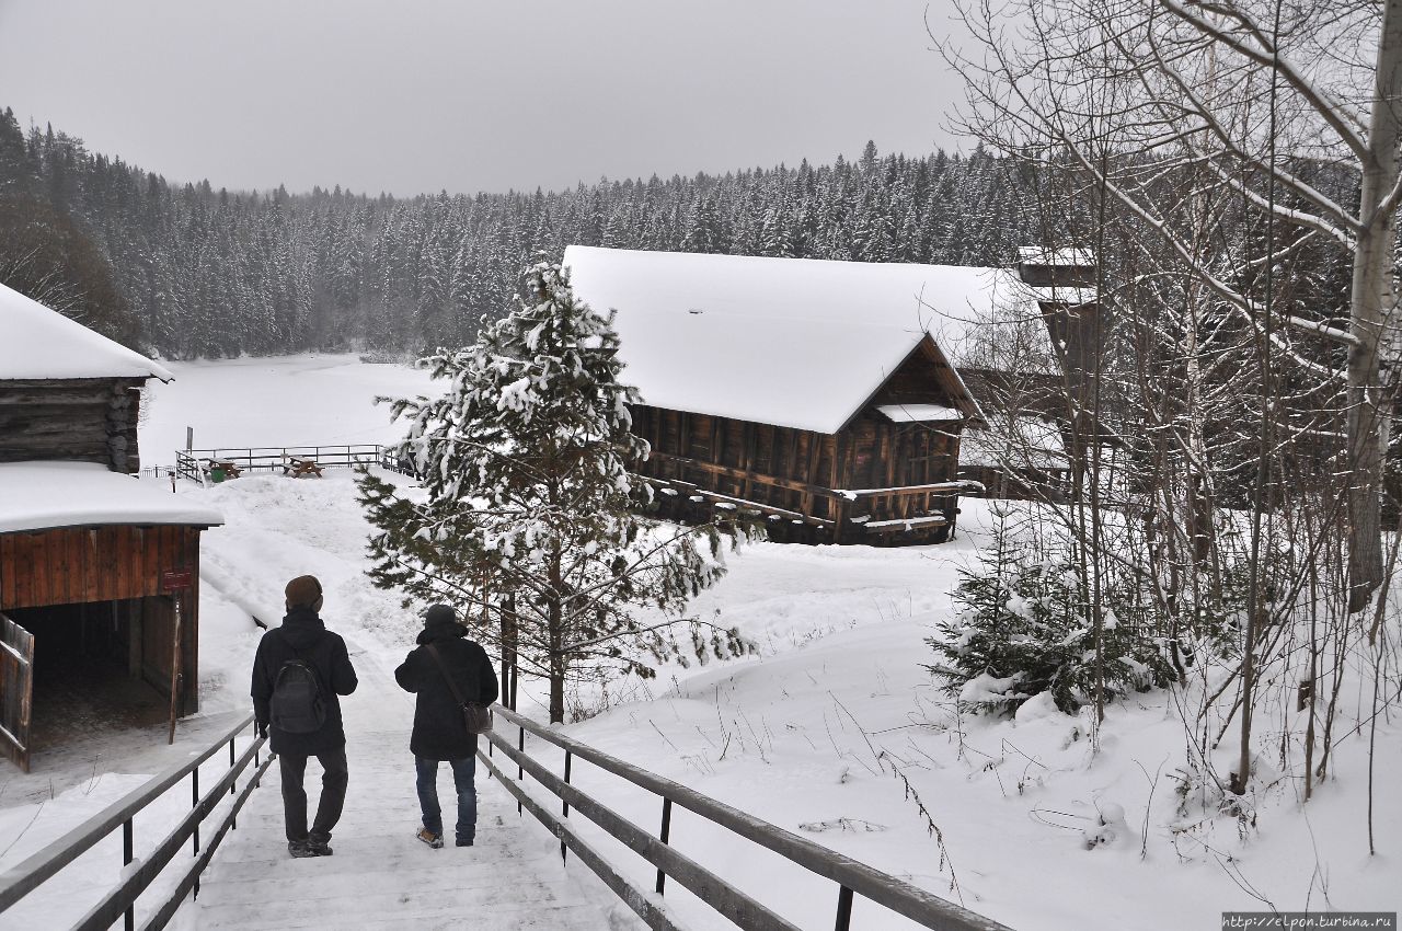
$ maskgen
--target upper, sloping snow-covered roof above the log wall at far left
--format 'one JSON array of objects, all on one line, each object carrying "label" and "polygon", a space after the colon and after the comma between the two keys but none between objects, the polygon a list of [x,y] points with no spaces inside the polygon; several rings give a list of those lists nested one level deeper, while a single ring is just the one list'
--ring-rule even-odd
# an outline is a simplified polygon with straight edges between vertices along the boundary
[{"label": "upper, sloping snow-covered roof above the log wall at far left", "polygon": [[0,285],[0,380],[175,376],[139,352]]}]

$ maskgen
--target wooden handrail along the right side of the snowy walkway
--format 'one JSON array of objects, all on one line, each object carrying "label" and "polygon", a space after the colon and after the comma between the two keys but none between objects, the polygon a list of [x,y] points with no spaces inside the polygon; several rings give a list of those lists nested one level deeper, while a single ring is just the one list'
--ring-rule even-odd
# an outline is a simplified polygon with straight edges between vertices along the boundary
[{"label": "wooden handrail along the right side of the snowy walkway", "polygon": [[[666,837],[666,830],[667,824],[670,824],[672,805],[676,803],[695,815],[700,815],[708,822],[719,824],[721,827],[725,827],[733,831],[735,834],[744,837],[746,840],[750,840],[761,847],[765,847],[767,850],[780,854],[785,859],[789,859],[791,862],[795,862],[799,867],[803,867],[805,869],[819,876],[831,879],[833,882],[838,883],[840,892],[838,892],[837,927],[840,930],[847,927],[844,914],[850,917],[851,896],[855,893],[861,895],[865,899],[869,899],[871,902],[885,906],[886,909],[890,909],[892,911],[900,916],[911,918],[913,921],[918,921],[927,928],[938,928],[941,931],[1011,931],[1007,925],[1002,925],[994,921],[993,918],[986,918],[980,914],[969,911],[967,909],[963,909],[952,902],[946,902],[945,899],[941,899],[939,896],[928,893],[924,889],[913,886],[908,882],[897,879],[896,876],[883,874],[879,869],[875,869],[872,867],[868,867],[866,864],[851,859],[850,857],[844,857],[843,854],[829,850],[827,847],[823,847],[820,844],[815,844],[813,841],[805,837],[799,837],[798,834],[794,834],[791,831],[787,831],[782,827],[777,827],[775,824],[754,817],[753,815],[747,815],[746,812],[742,812],[736,808],[730,808],[723,802],[718,802],[709,796],[701,795],[700,792],[690,789],[686,785],[681,785],[680,782],[673,782],[672,780],[642,770],[637,766],[632,766],[631,763],[625,763],[624,760],[608,756],[607,753],[590,747],[586,743],[580,743],[579,740],[573,740],[561,733],[557,733],[529,718],[516,714],[515,711],[503,708],[502,705],[494,705],[492,711],[501,715],[501,718],[516,725],[522,730],[522,740],[519,747],[512,747],[510,743],[505,740],[501,735],[492,733],[489,736],[492,746],[501,747],[503,753],[506,753],[512,759],[512,761],[517,763],[517,766],[520,767],[517,770],[517,778],[520,777],[520,770],[526,768],[526,761],[530,760],[530,757],[526,757],[524,754],[524,735],[529,732],[565,750],[566,780],[569,773],[568,767],[571,757],[579,757],[582,760],[593,763],[601,770],[613,773],[614,775],[618,775],[632,782],[634,785],[638,785],[639,788],[652,792],[653,795],[660,796],[663,799],[663,834],[660,837],[662,844],[666,844],[669,840]],[[481,753],[478,756],[481,756]],[[534,763],[534,760],[530,761]],[[499,775],[496,767],[492,768],[495,771],[494,774]],[[575,805],[576,808],[580,808],[580,810],[586,816],[589,816],[589,812],[583,810],[583,806],[580,805],[580,796],[583,799],[589,799],[589,796],[583,795],[582,792],[579,792],[579,789],[575,789],[573,787],[568,787],[569,788],[568,795],[571,798],[566,799],[565,794],[561,794],[559,791],[562,782],[558,780],[558,777],[554,777],[554,774],[545,771],[545,774],[548,774],[551,780],[548,781],[543,780],[540,770],[543,770],[543,767],[536,764],[536,768],[531,771],[531,775],[536,777],[537,781],[540,781],[543,785],[545,785],[545,788],[554,791],[557,795],[559,795],[562,799],[566,801],[566,809],[565,809],[566,816],[568,816],[568,805]],[[502,777],[502,781],[503,785],[508,787],[508,789],[512,788],[506,777]],[[520,801],[519,795],[517,801]],[[589,802],[597,808],[603,808],[597,802],[593,802],[593,799],[589,799]],[[604,810],[607,812],[607,809]],[[608,812],[608,815],[611,815],[611,812]],[[540,815],[537,815],[537,817],[540,817]],[[607,820],[610,819],[606,815],[604,822]],[[604,830],[607,830],[610,834],[613,834],[615,838],[628,844],[631,848],[637,850],[638,852],[644,852],[642,850],[639,850],[639,845],[637,843],[629,843],[629,838],[620,837],[618,833],[611,830],[607,823],[601,823],[599,820],[596,820],[596,823]],[[552,826],[547,823],[547,827]],[[646,847],[646,844],[642,845]],[[662,882],[665,875],[663,867],[660,864],[656,864],[656,859],[653,859],[653,857],[648,857],[646,854],[644,854],[644,857],[659,867],[658,892],[660,893],[663,889],[663,882]],[[723,881],[718,882],[723,883]],[[729,883],[723,885],[729,888]],[[737,892],[733,888],[729,889],[730,892]],[[625,896],[625,900],[627,899],[628,897]],[[629,902],[628,904],[632,903]],[[644,917],[646,918],[646,916]],[[791,927],[787,925],[787,923],[770,924],[765,920],[763,920],[763,917],[757,920],[747,920],[743,924],[737,921],[736,917],[732,914],[728,914],[726,917],[729,917],[732,921],[736,921],[736,924],[740,924],[740,927],[746,928]]]}]

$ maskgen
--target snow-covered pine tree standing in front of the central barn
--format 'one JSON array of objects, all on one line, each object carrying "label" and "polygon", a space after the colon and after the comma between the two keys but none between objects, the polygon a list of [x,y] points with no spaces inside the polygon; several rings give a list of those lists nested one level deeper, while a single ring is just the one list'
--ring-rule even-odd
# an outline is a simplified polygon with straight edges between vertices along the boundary
[{"label": "snow-covered pine tree standing in front of the central barn", "polygon": [[[631,432],[637,390],[620,384],[613,314],[575,300],[568,273],[527,268],[516,308],[477,344],[422,360],[447,381],[437,400],[395,401],[412,423],[393,451],[423,475],[426,499],[362,475],[379,533],[370,576],[422,602],[481,610],[482,639],[509,641],[524,674],[550,680],[550,719],[586,666],[649,677],[649,660],[750,648],[733,630],[676,617],[725,573],[743,523],[677,527],[644,516],[652,492],[628,467],[648,454]],[[642,624],[638,611],[672,620]],[[471,623],[471,621],[468,621]]]}]

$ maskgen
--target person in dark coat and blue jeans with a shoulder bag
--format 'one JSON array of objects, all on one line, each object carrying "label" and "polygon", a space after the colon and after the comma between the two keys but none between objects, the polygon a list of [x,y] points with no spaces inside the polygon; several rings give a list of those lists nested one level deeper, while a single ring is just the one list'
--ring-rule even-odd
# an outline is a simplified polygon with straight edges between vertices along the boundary
[{"label": "person in dark coat and blue jeans with a shoulder bag", "polygon": [[443,810],[437,799],[437,764],[447,760],[457,789],[457,845],[471,847],[477,837],[477,735],[467,732],[463,707],[443,677],[429,648],[437,651],[464,701],[489,705],[496,701],[496,670],[486,651],[467,639],[467,628],[447,604],[435,604],[423,616],[418,646],[394,670],[394,679],[414,701],[414,733],[409,752],[418,773],[423,827],[419,840],[443,845]]}]

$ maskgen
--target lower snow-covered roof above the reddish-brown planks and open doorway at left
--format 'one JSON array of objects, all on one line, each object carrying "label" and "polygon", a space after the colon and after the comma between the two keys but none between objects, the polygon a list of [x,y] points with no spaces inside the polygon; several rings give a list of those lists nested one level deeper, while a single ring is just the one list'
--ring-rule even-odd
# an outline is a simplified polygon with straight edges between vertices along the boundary
[{"label": "lower snow-covered roof above the reddish-brown planks and open doorway at left", "polygon": [[0,533],[98,524],[224,523],[212,508],[174,495],[163,482],[108,471],[97,463],[0,463]]}]

